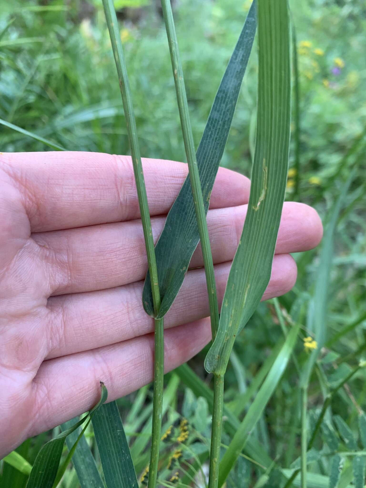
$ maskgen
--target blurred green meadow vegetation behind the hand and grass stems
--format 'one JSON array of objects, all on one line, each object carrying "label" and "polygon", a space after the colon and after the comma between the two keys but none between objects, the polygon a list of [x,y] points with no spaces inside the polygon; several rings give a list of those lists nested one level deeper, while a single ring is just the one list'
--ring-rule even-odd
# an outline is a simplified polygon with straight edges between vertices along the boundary
[{"label": "blurred green meadow vegetation behind the hand and grass stems", "polygon": [[[244,0],[174,1],[196,147],[250,3]],[[121,22],[142,156],[185,161],[159,2],[116,0],[115,5]],[[296,138],[293,137],[286,198],[314,205],[327,228],[329,212],[344,181],[352,168],[356,168],[337,222],[333,237],[334,258],[327,270],[330,286],[325,325],[328,338],[336,340],[322,351],[323,383],[316,374],[312,378],[309,409],[316,415],[326,386],[345,378],[363,359],[366,349],[366,6],[362,0],[291,0],[290,7],[296,26],[299,63],[300,165],[297,171]],[[256,49],[255,44],[222,160],[222,165],[247,175],[250,174],[256,115]],[[128,154],[115,65],[102,4],[98,0],[1,2],[0,93],[0,118],[7,122],[68,150]],[[4,126],[0,126],[0,147],[4,152],[48,150],[41,142]],[[299,186],[295,191],[297,178]],[[305,304],[300,317],[306,327],[314,285],[319,278],[319,250],[299,254],[295,259],[299,269],[297,284],[280,299],[279,305],[285,323],[290,324],[299,304]],[[281,339],[278,323],[274,304],[261,304],[238,338],[225,377],[225,400],[234,402],[234,410],[238,392],[245,394]],[[346,328],[347,325],[353,326]],[[302,349],[300,345],[300,358],[305,354]],[[209,382],[209,378],[205,378],[203,359],[204,351],[190,366]],[[365,372],[360,369],[331,403],[332,415],[339,414],[345,420],[358,448],[361,444],[357,444],[357,416],[366,401],[365,379]],[[205,469],[204,452],[210,435],[207,402],[196,398],[176,380],[174,374],[167,375],[170,403],[165,423],[169,426],[179,418],[177,412],[188,419],[190,449],[201,456],[200,463]],[[250,391],[248,401],[253,394],[255,390]],[[138,474],[148,460],[149,431],[147,426],[144,432],[143,426],[151,415],[150,400],[151,389],[147,387],[120,401],[131,445],[140,439],[140,446],[133,451]],[[300,452],[299,412],[297,377],[290,366],[252,433],[267,455],[282,468],[290,468]],[[145,441],[141,442],[143,436]],[[47,438],[49,433],[27,441],[20,452],[32,463]],[[88,442],[93,444],[90,429]],[[223,442],[227,444],[229,437],[224,436]],[[348,448],[342,434],[340,442],[344,450]],[[176,452],[176,447],[174,439],[167,442],[167,453]],[[321,439],[315,447],[318,452],[327,449]],[[194,459],[192,452],[184,451],[181,458]],[[175,466],[183,468],[179,458]],[[258,460],[253,462],[242,457],[227,486],[276,488],[285,485],[283,473],[274,468],[274,464],[268,467],[264,463],[263,468],[258,463]],[[355,483],[351,464],[351,457],[345,456],[337,486]],[[308,486],[328,487],[329,469],[329,458],[316,459],[309,467],[313,477],[309,478]],[[195,486],[189,480],[183,484],[183,471],[179,471],[179,480],[174,483]],[[205,486],[203,480],[197,480],[196,486]],[[14,468],[2,467],[1,486],[22,487],[25,481],[26,477]],[[79,487],[71,467],[61,486]],[[299,486],[299,482],[295,481],[294,486]]]}]

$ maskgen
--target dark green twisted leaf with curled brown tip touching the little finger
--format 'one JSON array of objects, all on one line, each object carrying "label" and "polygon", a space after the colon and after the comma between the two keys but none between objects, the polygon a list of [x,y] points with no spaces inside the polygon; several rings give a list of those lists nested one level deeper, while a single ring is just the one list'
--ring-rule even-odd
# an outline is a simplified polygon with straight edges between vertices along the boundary
[{"label": "dark green twisted leaf with curled brown tip touching the little finger", "polygon": [[106,401],[108,392],[106,387],[101,383],[101,399],[90,412],[82,417],[73,427],[61,432],[51,441],[45,444],[36,457],[32,471],[30,473],[27,488],[52,488],[58,473],[63,444],[66,437],[80,427],[89,416],[98,412],[99,408]]}]

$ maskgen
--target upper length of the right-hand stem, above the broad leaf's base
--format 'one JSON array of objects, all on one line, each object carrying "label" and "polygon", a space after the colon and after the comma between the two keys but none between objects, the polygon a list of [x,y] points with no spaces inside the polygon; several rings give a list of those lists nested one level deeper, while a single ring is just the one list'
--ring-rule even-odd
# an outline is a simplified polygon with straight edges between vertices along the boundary
[{"label": "upper length of the right-hand stem, above the broad leaf's base", "polygon": [[177,93],[179,115],[181,118],[182,133],[185,154],[187,157],[189,179],[192,188],[193,203],[196,212],[196,219],[200,234],[204,271],[206,274],[208,302],[210,306],[212,340],[216,337],[219,327],[219,306],[217,302],[216,281],[210,240],[206,222],[206,213],[203,205],[203,195],[200,183],[200,175],[197,166],[196,151],[194,148],[191,122],[189,119],[189,110],[187,96],[185,93],[183,69],[179,55],[178,40],[174,27],[172,8],[169,0],[162,0],[163,16],[165,21],[166,34],[169,42],[170,57],[174,74],[174,83]]}]

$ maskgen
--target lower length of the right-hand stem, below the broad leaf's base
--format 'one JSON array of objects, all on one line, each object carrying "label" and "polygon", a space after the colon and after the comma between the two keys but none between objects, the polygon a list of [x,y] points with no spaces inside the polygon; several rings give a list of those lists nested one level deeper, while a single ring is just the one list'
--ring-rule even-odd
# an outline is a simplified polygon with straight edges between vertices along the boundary
[{"label": "lower length of the right-hand stem, below the broad leaf's base", "polygon": [[224,376],[214,375],[214,403],[212,410],[212,433],[208,488],[216,488],[219,479],[221,430],[224,408]]}]

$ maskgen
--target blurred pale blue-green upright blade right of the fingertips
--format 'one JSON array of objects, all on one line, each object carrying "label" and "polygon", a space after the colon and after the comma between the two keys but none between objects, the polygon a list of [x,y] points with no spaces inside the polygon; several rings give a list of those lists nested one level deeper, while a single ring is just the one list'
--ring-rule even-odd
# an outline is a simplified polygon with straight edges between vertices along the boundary
[{"label": "blurred pale blue-green upright blade right of the fingertips", "polygon": [[339,195],[336,204],[331,212],[329,223],[325,229],[322,251],[320,255],[320,263],[317,272],[314,297],[310,303],[310,309],[313,313],[308,323],[308,329],[313,332],[314,338],[318,343],[318,348],[314,349],[306,361],[303,374],[301,377],[301,383],[306,385],[309,381],[312,368],[315,361],[318,358],[319,351],[325,345],[326,340],[326,314],[328,305],[328,290],[330,280],[330,269],[332,265],[333,257],[333,244],[334,244],[334,232],[337,225],[339,213],[341,211],[344,199],[346,197],[349,185],[353,180],[354,172],[349,175],[346,183],[344,183],[341,194]]}]

